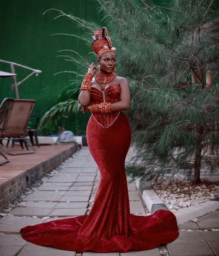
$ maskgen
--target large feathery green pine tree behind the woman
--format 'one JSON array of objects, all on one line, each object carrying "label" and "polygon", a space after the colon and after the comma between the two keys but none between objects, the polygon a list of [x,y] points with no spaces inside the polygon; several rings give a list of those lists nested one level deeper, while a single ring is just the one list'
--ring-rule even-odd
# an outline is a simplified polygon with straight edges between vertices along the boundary
[{"label": "large feathery green pine tree behind the woman", "polygon": [[200,183],[201,165],[219,169],[219,2],[98,3],[116,47],[116,73],[130,85],[135,157],[128,175],[148,182],[183,174]]}]

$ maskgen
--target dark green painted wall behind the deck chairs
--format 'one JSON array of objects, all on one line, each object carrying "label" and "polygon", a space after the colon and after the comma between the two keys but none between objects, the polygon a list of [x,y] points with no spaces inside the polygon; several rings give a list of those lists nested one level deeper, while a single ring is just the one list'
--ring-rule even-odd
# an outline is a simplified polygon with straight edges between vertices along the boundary
[{"label": "dark green painted wall behind the deck chairs", "polygon": [[[36,100],[33,115],[43,116],[57,102],[57,91],[75,79],[73,74],[57,72],[74,70],[71,61],[65,61],[57,51],[73,49],[81,55],[91,51],[82,40],[74,37],[55,35],[68,33],[80,35],[80,29],[67,17],[54,19],[58,12],[48,11],[49,8],[60,9],[97,24],[101,18],[97,15],[95,0],[0,0],[0,59],[13,61],[28,67],[40,69],[42,74],[33,75],[19,86],[20,98]],[[0,63],[0,70],[10,72],[9,65]],[[20,81],[30,72],[23,68],[16,69],[17,80]],[[85,70],[86,72],[86,70]],[[0,78],[0,102],[6,97],[15,97],[11,89],[12,78]],[[85,131],[90,113],[79,113],[82,130]],[[74,123],[74,116],[69,122]]]}]

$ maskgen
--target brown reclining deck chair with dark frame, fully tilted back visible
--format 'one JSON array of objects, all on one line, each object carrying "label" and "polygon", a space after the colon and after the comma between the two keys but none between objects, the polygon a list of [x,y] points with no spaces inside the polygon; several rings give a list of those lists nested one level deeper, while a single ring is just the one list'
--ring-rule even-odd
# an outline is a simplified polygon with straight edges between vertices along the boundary
[{"label": "brown reclining deck chair with dark frame, fully tilted back visible", "polygon": [[[0,128],[0,147],[10,155],[22,155],[22,154],[31,154],[36,153],[34,147],[29,143],[25,138],[25,133],[27,129],[27,124],[30,119],[33,107],[35,105],[35,100],[29,99],[14,99],[11,109],[8,111],[7,116],[2,123]],[[12,153],[8,152],[6,147],[3,145],[3,140],[19,140],[24,142],[27,150],[28,146],[32,149],[30,152],[17,152]]]}]

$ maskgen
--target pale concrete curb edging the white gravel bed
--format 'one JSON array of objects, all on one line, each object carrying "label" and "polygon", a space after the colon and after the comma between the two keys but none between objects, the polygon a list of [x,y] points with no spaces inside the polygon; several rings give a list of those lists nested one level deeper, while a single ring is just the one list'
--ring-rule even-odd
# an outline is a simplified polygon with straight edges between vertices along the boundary
[{"label": "pale concrete curb edging the white gravel bed", "polygon": [[[166,207],[149,183],[140,184],[139,179],[136,179],[135,184],[150,213],[153,214],[159,209],[169,211],[168,207]],[[181,225],[192,219],[216,211],[217,209],[219,209],[219,201],[209,200],[195,206],[179,209],[173,212],[173,214],[176,216],[177,224]]]}]

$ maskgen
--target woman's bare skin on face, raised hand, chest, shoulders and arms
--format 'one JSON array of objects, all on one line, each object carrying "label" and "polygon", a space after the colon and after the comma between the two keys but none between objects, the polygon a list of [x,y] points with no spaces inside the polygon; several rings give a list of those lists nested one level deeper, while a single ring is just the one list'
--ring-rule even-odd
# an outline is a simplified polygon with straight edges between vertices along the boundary
[{"label": "woman's bare skin on face, raised hand, chest, shoulders and arms", "polygon": [[[101,72],[112,73],[114,67],[116,67],[116,54],[113,52],[106,52],[100,56],[97,62],[100,65]],[[88,69],[88,73],[94,74],[96,69],[97,67],[95,67],[92,63]],[[95,80],[95,78],[93,78],[91,82],[91,87],[96,87],[98,90],[104,91],[112,84],[119,85],[121,88],[121,92],[120,101],[111,104],[111,111],[128,110],[130,107],[130,92],[128,81],[124,77],[116,76],[115,79],[113,79],[107,84],[100,84]],[[78,102],[85,108],[85,110],[91,111],[92,104],[90,104],[90,101],[90,91],[80,91]]]}]

